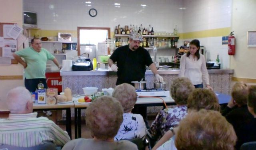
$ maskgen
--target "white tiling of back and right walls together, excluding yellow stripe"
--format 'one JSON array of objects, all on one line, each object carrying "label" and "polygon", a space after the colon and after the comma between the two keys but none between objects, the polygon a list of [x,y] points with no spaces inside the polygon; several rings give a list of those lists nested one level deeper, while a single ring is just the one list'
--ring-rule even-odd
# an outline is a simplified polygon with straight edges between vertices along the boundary
[{"label": "white tiling of back and right walls together, excluding yellow stripe", "polygon": [[[232,0],[90,0],[91,6],[86,6],[86,1],[24,0],[24,10],[38,13],[38,28],[43,30],[77,30],[77,26],[88,26],[110,27],[113,32],[118,24],[151,24],[155,32],[173,32],[177,25],[178,32],[186,33],[231,26]],[[120,8],[114,3],[120,3]],[[146,4],[146,8],[141,4]],[[94,18],[88,14],[91,8],[98,11]],[[210,54],[208,59],[215,60],[219,53],[222,68],[230,66],[222,37],[199,40]],[[179,40],[178,46],[182,43]]]}]

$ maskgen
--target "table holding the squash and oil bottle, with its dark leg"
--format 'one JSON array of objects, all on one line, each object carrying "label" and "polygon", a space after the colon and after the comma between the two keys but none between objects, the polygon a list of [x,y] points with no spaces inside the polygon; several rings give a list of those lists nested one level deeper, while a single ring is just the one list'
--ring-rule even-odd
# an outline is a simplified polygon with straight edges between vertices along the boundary
[{"label": "table holding the squash and oil bottle, with its dark leg", "polygon": [[74,102],[70,103],[57,103],[56,105],[46,105],[34,103],[33,111],[50,111],[50,110],[66,110],[66,131],[72,139],[72,130],[71,130],[71,111],[70,108],[74,107]]}]

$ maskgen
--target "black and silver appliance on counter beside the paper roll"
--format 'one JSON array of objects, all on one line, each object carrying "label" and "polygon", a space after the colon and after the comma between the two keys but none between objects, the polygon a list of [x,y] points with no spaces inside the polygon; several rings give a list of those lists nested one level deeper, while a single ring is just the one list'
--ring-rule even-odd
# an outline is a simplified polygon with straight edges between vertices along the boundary
[{"label": "black and silver appliance on counter beside the paper roll", "polygon": [[72,65],[72,71],[90,71],[92,69],[92,61],[89,58],[78,59]]}]

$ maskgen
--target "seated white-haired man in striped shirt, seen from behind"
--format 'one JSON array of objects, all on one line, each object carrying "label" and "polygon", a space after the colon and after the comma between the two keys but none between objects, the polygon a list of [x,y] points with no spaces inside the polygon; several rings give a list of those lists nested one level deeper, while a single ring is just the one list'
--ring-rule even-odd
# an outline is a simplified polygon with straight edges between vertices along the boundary
[{"label": "seated white-haired man in striped shirt, seen from behind", "polygon": [[0,144],[16,147],[34,147],[45,142],[63,146],[70,141],[64,132],[52,120],[36,118],[30,92],[25,87],[16,87],[7,93],[9,118],[0,119]]}]

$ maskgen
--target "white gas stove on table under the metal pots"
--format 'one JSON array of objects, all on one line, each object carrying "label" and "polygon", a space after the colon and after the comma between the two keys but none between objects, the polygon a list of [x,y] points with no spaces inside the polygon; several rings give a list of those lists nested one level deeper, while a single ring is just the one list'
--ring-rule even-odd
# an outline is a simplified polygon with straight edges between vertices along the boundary
[{"label": "white gas stove on table under the metal pots", "polygon": [[153,97],[170,97],[170,91],[165,89],[145,89],[136,90],[138,97],[140,96],[153,96]]}]

